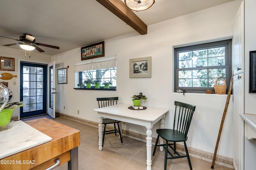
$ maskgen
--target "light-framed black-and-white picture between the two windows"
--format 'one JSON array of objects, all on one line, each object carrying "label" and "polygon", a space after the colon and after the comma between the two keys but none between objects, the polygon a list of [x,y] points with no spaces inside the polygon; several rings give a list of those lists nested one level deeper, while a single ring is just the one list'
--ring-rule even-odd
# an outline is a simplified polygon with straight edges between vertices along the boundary
[{"label": "light-framed black-and-white picture between the two windows", "polygon": [[151,57],[130,59],[130,78],[151,77]]}]

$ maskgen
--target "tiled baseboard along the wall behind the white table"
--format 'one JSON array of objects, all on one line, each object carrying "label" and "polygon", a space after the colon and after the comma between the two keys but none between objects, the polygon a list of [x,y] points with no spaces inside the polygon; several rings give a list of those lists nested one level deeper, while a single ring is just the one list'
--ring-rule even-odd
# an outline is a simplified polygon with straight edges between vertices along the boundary
[{"label": "tiled baseboard along the wall behind the white table", "polygon": [[[81,118],[78,118],[78,117],[75,117],[75,116],[70,116],[70,115],[66,115],[64,113],[58,113],[58,112],[56,112],[56,116],[62,116],[62,117],[65,117],[67,119],[77,121],[77,122],[80,122],[80,123],[84,123],[86,125],[90,125],[90,126],[98,128],[98,123],[94,122],[94,121],[89,121],[89,120],[86,120],[86,119],[81,119]],[[113,127],[107,126],[106,129],[113,129]],[[146,135],[142,135],[142,134],[139,134],[139,133],[134,133],[134,132],[127,131],[127,130],[124,130],[124,129],[122,129],[122,135],[126,136],[126,137],[130,137],[132,139],[137,139],[139,141],[146,142]],[[156,138],[152,138],[152,143],[153,144],[156,143]],[[185,148],[184,148],[183,145],[177,144],[176,149],[180,150],[180,152],[186,154]],[[214,156],[214,153],[205,152],[203,150],[194,149],[194,148],[191,148],[191,147],[188,147],[188,152],[191,156],[194,156],[196,158],[200,158],[202,160],[207,160],[209,162],[212,162],[213,156]],[[220,165],[226,166],[228,168],[234,168],[233,159],[225,157],[225,156],[216,155],[216,159],[215,159],[214,164],[220,164]]]}]

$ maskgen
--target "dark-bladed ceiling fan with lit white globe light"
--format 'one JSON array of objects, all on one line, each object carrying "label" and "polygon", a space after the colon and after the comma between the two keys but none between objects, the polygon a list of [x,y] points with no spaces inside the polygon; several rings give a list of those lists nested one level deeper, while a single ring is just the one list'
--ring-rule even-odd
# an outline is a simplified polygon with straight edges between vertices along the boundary
[{"label": "dark-bladed ceiling fan with lit white globe light", "polygon": [[[4,37],[4,36],[0,35],[0,37]],[[9,37],[4,37],[4,38],[9,38]],[[9,38],[9,39],[14,39],[14,38]],[[6,44],[4,46],[20,45],[20,47],[25,49],[25,50],[31,51],[33,49],[36,49],[37,51],[39,51],[41,53],[44,52],[44,50],[39,48],[36,45],[49,47],[49,48],[54,48],[54,49],[60,49],[60,47],[57,47],[57,46],[47,45],[47,44],[42,44],[42,43],[36,43],[36,38],[33,37],[32,35],[28,34],[28,33],[24,33],[23,35],[20,35],[20,39],[14,39],[14,40],[22,41],[22,43],[12,43],[12,44]],[[23,45],[23,47],[22,47],[22,45]],[[26,49],[26,47],[28,47],[28,49]]]}]

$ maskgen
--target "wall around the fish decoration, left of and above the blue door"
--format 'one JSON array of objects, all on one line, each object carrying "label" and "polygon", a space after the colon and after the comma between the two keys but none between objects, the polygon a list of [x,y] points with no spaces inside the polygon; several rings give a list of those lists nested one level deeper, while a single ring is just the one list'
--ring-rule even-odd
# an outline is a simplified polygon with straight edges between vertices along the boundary
[{"label": "wall around the fish decoration, left of and above the blue door", "polygon": [[[0,82],[8,82],[8,88],[12,90],[12,100],[11,101],[20,101],[20,66],[18,65],[18,60],[20,61],[31,61],[31,62],[44,62],[44,63],[50,63],[51,62],[51,56],[50,55],[44,55],[43,53],[34,53],[30,52],[30,58],[29,58],[29,52],[27,51],[27,55],[25,57],[25,50],[18,50],[18,49],[11,49],[7,47],[1,47],[0,46],[0,56],[1,57],[10,57],[15,59],[15,71],[2,71],[0,70],[0,74],[4,72],[8,72],[12,75],[17,75],[17,78],[14,77],[10,80],[2,80],[0,79]],[[16,83],[16,85],[14,85]],[[15,109],[13,112],[13,116],[19,116],[19,109]]]}]

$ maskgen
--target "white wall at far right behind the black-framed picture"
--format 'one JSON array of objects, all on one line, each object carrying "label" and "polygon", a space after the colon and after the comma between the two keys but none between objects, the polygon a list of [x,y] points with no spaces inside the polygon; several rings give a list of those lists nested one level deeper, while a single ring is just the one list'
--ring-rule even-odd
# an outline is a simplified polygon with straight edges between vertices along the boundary
[{"label": "white wall at far right behind the black-framed picture", "polygon": [[[256,39],[256,1],[245,0],[245,98],[244,110],[245,113],[256,114],[256,93],[249,93],[249,68],[250,56],[249,51],[255,51]],[[256,167],[256,139],[248,140],[244,137],[244,169],[253,170]]]}]

